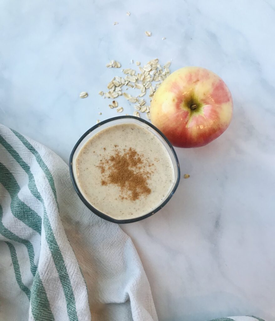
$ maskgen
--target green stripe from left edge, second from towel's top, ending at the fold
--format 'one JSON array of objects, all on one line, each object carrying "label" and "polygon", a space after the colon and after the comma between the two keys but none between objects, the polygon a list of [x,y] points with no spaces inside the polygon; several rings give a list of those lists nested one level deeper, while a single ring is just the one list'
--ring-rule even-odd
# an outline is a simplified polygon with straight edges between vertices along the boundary
[{"label": "green stripe from left edge, second from towel's top, ending at the fold", "polygon": [[29,177],[29,183],[28,187],[31,192],[31,194],[37,198],[40,202],[42,201],[42,197],[37,190],[37,187],[35,185],[35,180],[32,175],[32,172],[30,171],[30,166],[24,162],[24,160],[21,158],[21,156],[16,152],[16,150],[4,139],[2,135],[0,135],[0,144],[4,146],[4,148],[11,154],[11,156],[18,162],[18,164],[24,169],[24,171],[28,174]]}]

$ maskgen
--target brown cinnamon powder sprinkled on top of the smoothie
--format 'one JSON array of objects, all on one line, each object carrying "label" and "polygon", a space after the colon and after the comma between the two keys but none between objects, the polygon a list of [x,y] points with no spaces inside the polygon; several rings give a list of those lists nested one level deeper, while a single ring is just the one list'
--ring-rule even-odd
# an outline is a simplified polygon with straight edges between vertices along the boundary
[{"label": "brown cinnamon powder sprinkled on top of the smoothie", "polygon": [[148,187],[151,172],[148,171],[148,167],[151,169],[152,165],[131,147],[123,153],[115,149],[112,156],[102,159],[99,163],[98,167],[103,174],[101,185],[117,185],[121,189],[122,199],[135,201],[141,195],[151,193]]}]

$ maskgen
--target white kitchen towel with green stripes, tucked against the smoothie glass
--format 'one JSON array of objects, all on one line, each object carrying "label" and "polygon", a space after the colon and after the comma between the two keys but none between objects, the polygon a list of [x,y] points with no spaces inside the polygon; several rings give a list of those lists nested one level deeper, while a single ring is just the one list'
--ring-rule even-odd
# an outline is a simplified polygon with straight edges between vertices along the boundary
[{"label": "white kitchen towel with green stripes, tucked against the smoothie glass", "polygon": [[0,320],[91,319],[157,320],[133,243],[82,204],[63,160],[0,125]]}]

